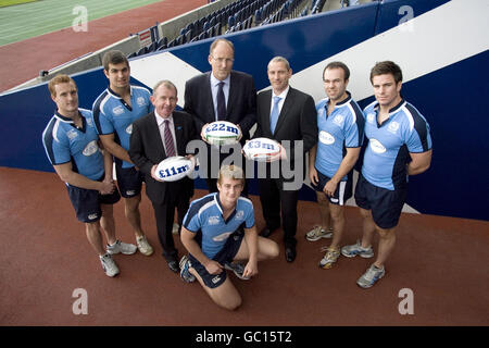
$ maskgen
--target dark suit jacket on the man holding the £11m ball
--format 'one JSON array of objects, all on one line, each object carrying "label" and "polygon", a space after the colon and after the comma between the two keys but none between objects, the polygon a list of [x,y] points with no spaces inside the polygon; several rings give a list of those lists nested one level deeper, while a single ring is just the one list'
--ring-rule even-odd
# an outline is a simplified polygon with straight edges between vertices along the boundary
[{"label": "dark suit jacket on the man holding the \u00a311m ball", "polygon": [[[187,144],[197,138],[193,120],[189,114],[180,111],[173,112],[173,120],[177,152],[179,156],[185,156],[187,154]],[[145,174],[146,194],[152,202],[161,204],[168,198],[176,199],[176,197],[173,197],[175,195],[181,196],[184,199],[193,195],[193,181],[189,177],[184,177],[178,182],[161,183],[151,176],[152,166],[166,159],[154,112],[133,123],[129,157]],[[172,197],[168,197],[170,195]]]}]

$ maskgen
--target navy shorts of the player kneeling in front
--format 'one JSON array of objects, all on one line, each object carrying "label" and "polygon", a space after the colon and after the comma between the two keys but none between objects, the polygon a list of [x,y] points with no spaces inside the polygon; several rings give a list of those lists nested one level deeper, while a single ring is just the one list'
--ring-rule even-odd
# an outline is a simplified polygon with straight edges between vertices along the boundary
[{"label": "navy shorts of the player kneeling in front", "polygon": [[[217,261],[223,266],[226,262],[231,262],[236,254],[238,253],[239,247],[241,246],[242,238],[244,237],[244,232],[242,229],[238,229],[234,234],[231,234],[223,249],[217,252],[212,260]],[[226,270],[223,270],[220,274],[210,274],[208,270],[200,263],[192,254],[189,254],[190,265],[199,273],[200,277],[204,282],[205,286],[213,289],[218,287],[221,284],[226,281],[227,273]]]}]

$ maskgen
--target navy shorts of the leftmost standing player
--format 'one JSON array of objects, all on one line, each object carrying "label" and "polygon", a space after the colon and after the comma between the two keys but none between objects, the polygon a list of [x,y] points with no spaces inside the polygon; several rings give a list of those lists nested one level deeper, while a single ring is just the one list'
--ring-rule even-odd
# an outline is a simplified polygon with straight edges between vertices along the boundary
[{"label": "navy shorts of the leftmost standing player", "polygon": [[[98,182],[101,182],[99,179]],[[76,217],[84,223],[97,222],[102,217],[101,204],[114,204],[121,199],[117,188],[110,195],[100,195],[98,190],[66,185],[70,200],[75,208]]]}]

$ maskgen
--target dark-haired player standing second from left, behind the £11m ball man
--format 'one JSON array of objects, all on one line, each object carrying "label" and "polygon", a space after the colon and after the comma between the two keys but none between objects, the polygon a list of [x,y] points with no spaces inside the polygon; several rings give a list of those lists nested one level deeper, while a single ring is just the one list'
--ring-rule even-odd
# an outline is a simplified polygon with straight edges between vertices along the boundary
[{"label": "dark-haired player standing second from left, behind the \u00a311m ball man", "polygon": [[133,122],[153,111],[151,94],[146,88],[129,84],[129,62],[123,52],[106,52],[102,64],[109,87],[93,102],[93,121],[103,147],[114,156],[124,212],[135,232],[138,249],[142,254],[150,256],[153,248],[145,236],[139,213],[143,175],[130,161],[128,150]]}]

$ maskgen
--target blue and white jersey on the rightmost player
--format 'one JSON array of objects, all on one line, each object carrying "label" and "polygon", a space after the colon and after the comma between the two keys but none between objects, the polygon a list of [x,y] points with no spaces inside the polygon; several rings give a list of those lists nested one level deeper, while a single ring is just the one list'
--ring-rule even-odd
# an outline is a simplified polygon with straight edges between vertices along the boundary
[{"label": "blue and white jersey on the rightmost player", "polygon": [[389,119],[381,125],[377,121],[377,101],[364,109],[364,115],[368,144],[362,175],[378,187],[390,190],[405,187],[410,152],[421,153],[431,149],[428,122],[404,100],[389,111]]}]

